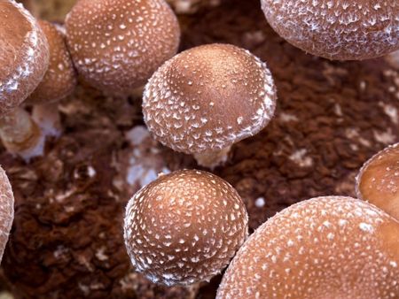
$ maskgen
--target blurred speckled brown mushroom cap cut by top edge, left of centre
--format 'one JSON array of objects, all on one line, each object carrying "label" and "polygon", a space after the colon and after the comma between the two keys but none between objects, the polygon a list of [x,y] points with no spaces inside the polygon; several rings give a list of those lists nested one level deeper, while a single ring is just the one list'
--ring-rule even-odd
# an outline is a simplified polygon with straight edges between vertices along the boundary
[{"label": "blurred speckled brown mushroom cap cut by top edge, left of centre", "polygon": [[124,94],[176,54],[180,29],[164,0],[80,0],[66,17],[66,36],[84,80]]}]

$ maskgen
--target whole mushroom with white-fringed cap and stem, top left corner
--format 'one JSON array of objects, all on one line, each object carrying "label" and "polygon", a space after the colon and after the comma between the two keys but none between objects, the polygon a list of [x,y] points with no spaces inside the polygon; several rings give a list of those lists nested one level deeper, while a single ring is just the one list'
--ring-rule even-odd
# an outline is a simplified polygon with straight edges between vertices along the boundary
[{"label": "whole mushroom with white-fringed cap and stem, top left corner", "polygon": [[0,15],[0,137],[10,152],[29,158],[43,152],[43,135],[18,106],[43,79],[49,46],[22,4],[2,1]]}]

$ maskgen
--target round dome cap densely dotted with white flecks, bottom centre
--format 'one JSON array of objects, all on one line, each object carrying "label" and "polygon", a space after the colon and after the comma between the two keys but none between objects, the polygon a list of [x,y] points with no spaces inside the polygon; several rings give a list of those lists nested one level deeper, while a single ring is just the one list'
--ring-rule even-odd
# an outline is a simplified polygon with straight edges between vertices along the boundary
[{"label": "round dome cap densely dotted with white flecks, bottom centre", "polygon": [[247,214],[237,191],[211,173],[162,175],[129,201],[124,237],[138,272],[160,284],[209,280],[245,241]]}]

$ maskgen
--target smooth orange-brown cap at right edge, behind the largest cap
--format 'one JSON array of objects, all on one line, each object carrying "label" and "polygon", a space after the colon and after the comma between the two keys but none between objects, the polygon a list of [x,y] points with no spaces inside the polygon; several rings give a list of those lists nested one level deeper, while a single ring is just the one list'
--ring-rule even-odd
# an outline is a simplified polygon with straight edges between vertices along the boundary
[{"label": "smooth orange-brown cap at right edge, behind the largest cap", "polygon": [[356,178],[356,195],[399,219],[399,143],[364,164]]}]

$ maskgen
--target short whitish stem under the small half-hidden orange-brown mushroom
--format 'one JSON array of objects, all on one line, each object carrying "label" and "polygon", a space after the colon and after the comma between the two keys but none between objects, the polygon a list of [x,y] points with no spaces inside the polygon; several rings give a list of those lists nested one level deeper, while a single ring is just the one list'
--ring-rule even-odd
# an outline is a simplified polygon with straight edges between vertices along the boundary
[{"label": "short whitish stem under the small half-hidden orange-brown mushroom", "polygon": [[32,111],[32,118],[40,126],[44,136],[59,137],[62,133],[59,106],[57,103],[35,105]]}]

